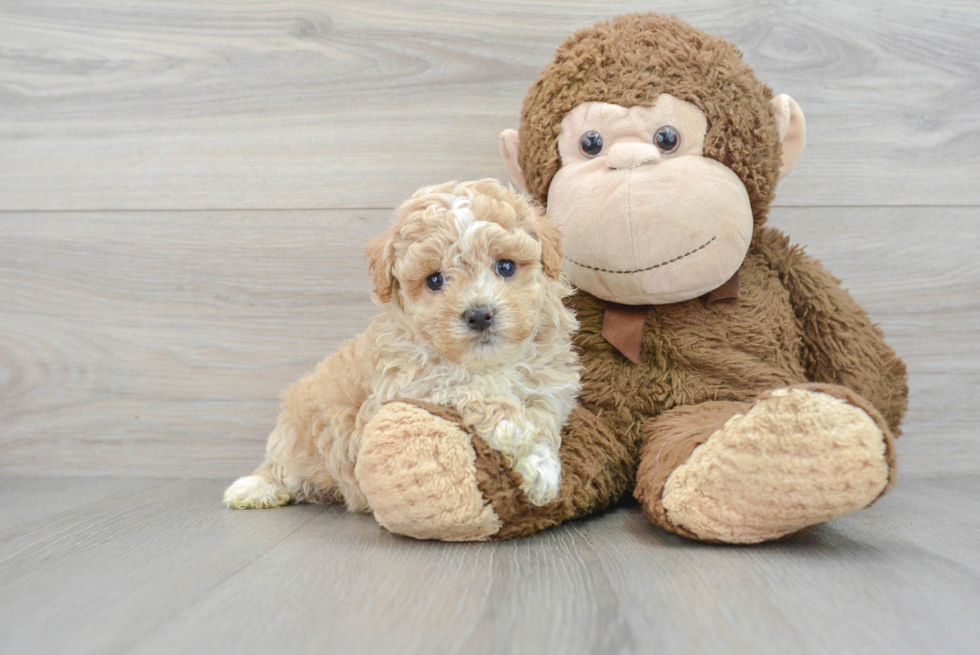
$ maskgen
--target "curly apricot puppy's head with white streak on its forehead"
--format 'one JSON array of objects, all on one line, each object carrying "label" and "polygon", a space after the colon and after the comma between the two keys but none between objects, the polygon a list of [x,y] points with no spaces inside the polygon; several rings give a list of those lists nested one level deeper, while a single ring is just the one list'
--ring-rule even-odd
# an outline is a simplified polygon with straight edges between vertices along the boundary
[{"label": "curly apricot puppy's head with white streak on its forehead", "polygon": [[515,356],[555,320],[570,293],[558,231],[495,180],[417,191],[367,257],[380,304],[450,361]]}]

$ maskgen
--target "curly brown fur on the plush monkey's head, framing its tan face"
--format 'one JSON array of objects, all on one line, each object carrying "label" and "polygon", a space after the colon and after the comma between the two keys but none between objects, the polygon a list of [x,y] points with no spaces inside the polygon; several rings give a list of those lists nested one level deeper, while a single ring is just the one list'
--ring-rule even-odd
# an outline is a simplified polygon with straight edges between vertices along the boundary
[{"label": "curly brown fur on the plush monkey's head, framing its tan face", "polygon": [[708,116],[704,155],[741,178],[761,225],[779,178],[772,90],[719,36],[673,16],[630,14],[580,30],[559,48],[528,90],[521,112],[520,164],[527,190],[547,202],[561,168],[561,121],[583,102],[653,104],[661,93]]}]

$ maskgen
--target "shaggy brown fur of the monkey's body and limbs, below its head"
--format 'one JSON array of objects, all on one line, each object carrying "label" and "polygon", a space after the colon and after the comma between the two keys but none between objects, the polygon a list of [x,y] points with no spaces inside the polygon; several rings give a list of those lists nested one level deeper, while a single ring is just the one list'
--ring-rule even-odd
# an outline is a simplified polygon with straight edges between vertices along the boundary
[{"label": "shaggy brown fur of the monkey's body and limbs, below its head", "polygon": [[881,330],[819,262],[774,229],[758,231],[740,277],[738,300],[651,307],[639,365],[602,337],[605,303],[585,293],[570,299],[585,369],[581,406],[562,435],[556,501],[529,506],[503,458],[474,442],[479,487],[503,521],[495,538],[590,514],[628,493],[634,479],[651,520],[697,537],[663,512],[670,473],[736,411],[772,389],[806,382],[833,385],[822,390],[880,421],[894,480],[892,435],[900,434],[908,388],[905,365]]}]

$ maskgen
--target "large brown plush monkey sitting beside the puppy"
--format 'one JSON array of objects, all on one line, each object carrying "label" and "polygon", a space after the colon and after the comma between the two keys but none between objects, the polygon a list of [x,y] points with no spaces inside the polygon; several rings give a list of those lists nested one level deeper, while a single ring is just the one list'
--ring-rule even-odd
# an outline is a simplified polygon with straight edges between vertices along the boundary
[{"label": "large brown plush monkey sitting beside the puppy", "polygon": [[633,492],[672,532],[754,543],[884,494],[905,366],[838,280],[764,227],[804,142],[799,106],[722,38],[636,14],[568,39],[520,132],[502,135],[580,290],[583,391],[561,491],[530,505],[452,416],[395,403],[367,426],[358,464],[378,521],[501,539]]}]

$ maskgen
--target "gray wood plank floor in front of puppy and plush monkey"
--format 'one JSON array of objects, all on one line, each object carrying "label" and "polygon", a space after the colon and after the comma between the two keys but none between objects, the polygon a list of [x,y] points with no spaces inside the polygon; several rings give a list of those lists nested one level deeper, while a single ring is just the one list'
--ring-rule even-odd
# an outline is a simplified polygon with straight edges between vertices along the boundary
[{"label": "gray wood plank floor in front of puppy and plush monkey", "polygon": [[[518,541],[419,542],[336,506],[227,510],[223,484],[0,478],[0,652],[980,646],[975,476],[906,482],[751,548],[685,541],[635,507]],[[33,511],[17,511],[28,499]]]}]

